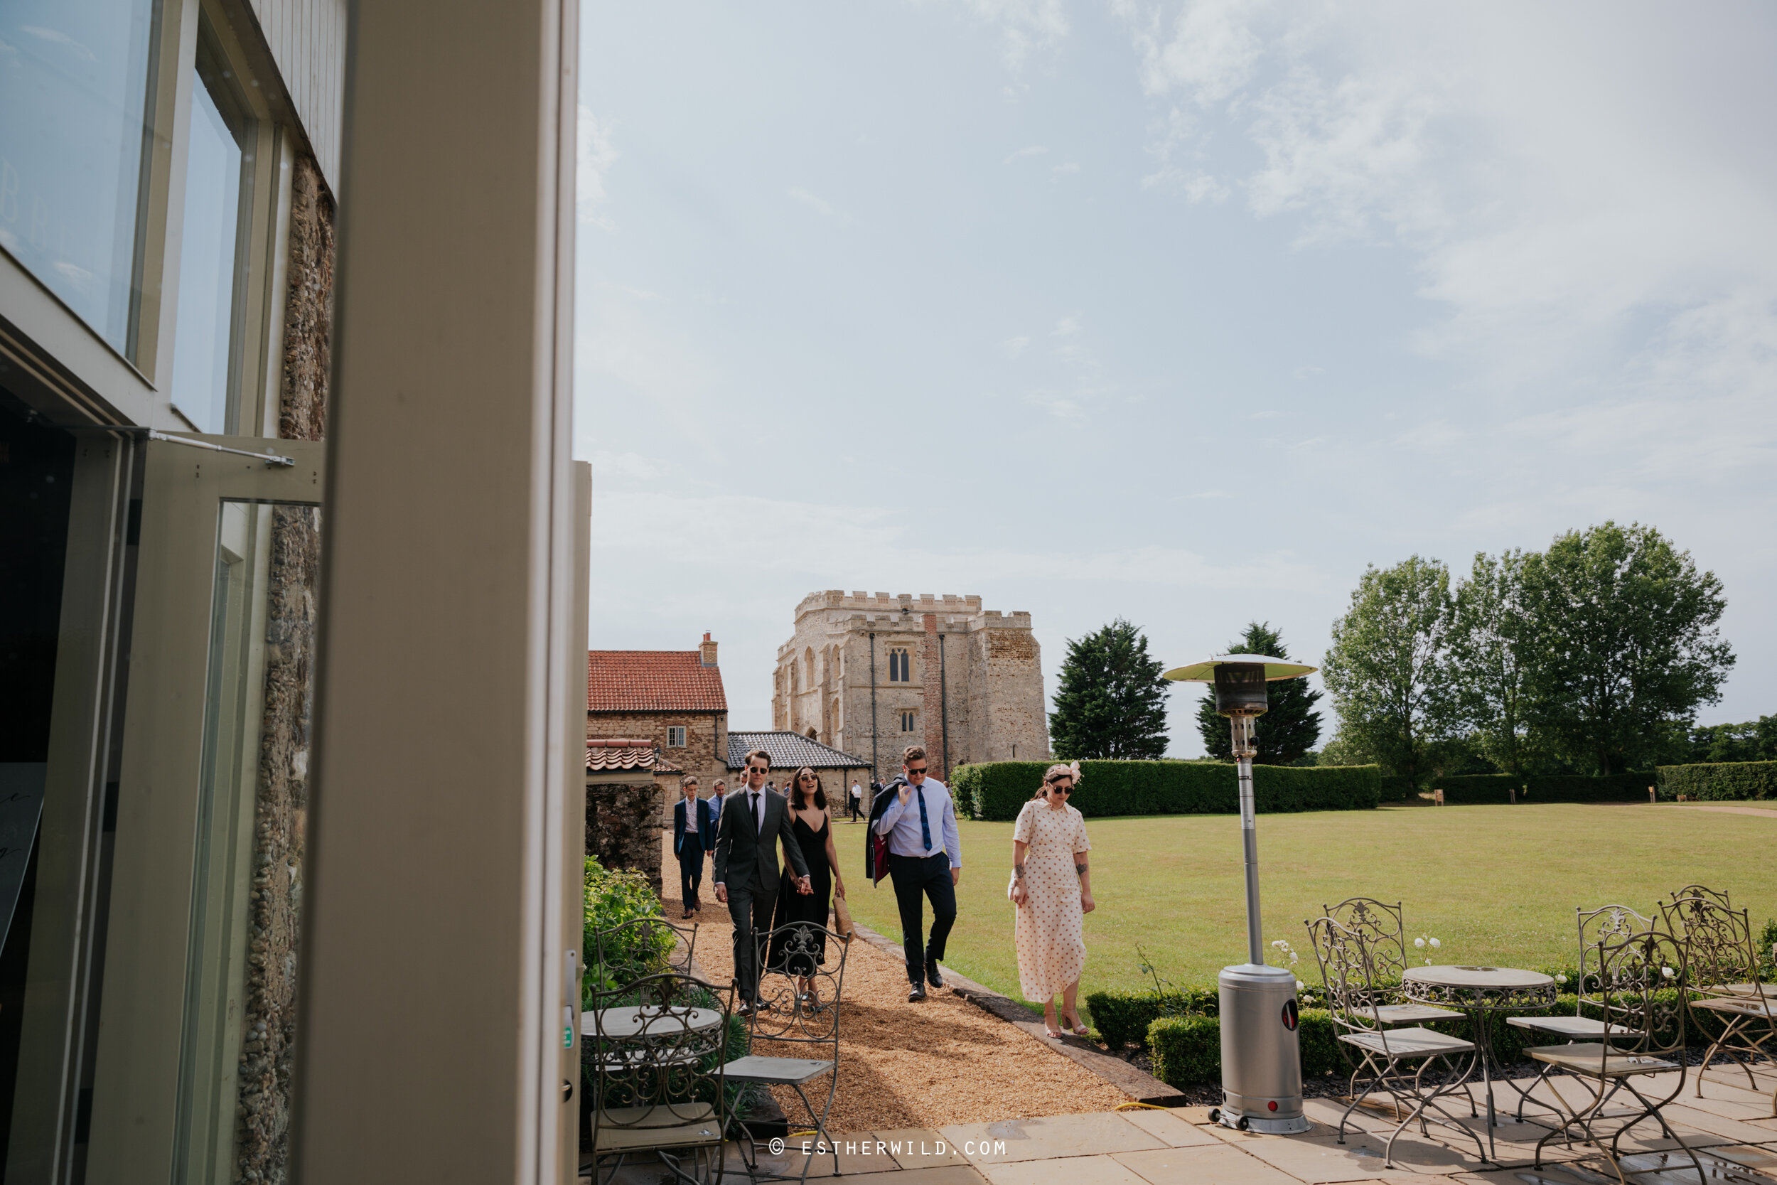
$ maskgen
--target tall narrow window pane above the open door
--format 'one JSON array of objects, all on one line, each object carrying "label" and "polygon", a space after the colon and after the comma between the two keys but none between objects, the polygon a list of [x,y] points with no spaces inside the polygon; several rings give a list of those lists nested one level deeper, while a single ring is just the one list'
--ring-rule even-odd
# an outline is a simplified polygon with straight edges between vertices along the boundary
[{"label": "tall narrow window pane above the open door", "polygon": [[[172,405],[199,432],[229,432],[235,256],[242,206],[240,123],[224,119],[229,96],[211,94],[199,66],[192,84],[192,137],[185,163],[185,235],[179,243]],[[219,103],[220,98],[220,103]]]}]

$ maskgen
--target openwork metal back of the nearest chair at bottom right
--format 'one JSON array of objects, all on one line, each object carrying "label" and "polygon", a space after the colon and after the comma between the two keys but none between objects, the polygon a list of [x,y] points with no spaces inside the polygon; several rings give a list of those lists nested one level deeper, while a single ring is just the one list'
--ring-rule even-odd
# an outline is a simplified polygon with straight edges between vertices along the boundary
[{"label": "openwork metal back of the nearest chair at bottom right", "polygon": [[1592,943],[1589,961],[1599,1018],[1622,1027],[1599,1038],[1606,1057],[1685,1052],[1686,959],[1681,940],[1653,924],[1610,931]]}]

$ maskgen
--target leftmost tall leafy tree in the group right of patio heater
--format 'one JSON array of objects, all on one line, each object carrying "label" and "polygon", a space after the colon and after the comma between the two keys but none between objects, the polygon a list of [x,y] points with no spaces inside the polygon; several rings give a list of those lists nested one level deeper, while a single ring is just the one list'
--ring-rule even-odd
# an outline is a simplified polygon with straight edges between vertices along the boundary
[{"label": "leftmost tall leafy tree in the group right of patio heater", "polygon": [[1333,622],[1320,677],[1340,716],[1340,737],[1386,773],[1418,785],[1441,741],[1455,732],[1455,696],[1445,645],[1450,569],[1411,556],[1370,567]]}]

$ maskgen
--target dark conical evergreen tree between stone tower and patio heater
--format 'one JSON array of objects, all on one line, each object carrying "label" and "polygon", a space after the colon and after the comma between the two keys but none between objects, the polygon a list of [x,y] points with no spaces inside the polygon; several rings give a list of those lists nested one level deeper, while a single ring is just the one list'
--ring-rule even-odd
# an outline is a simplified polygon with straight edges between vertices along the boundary
[{"label": "dark conical evergreen tree between stone tower and patio heater", "polygon": [[1048,737],[1056,757],[1153,759],[1166,755],[1166,664],[1148,640],[1118,618],[1068,641]]}]

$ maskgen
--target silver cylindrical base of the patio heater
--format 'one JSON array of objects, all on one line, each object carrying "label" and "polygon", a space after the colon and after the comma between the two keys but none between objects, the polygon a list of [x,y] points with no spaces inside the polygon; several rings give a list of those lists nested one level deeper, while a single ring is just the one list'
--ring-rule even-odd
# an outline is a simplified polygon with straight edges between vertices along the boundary
[{"label": "silver cylindrical base of the patio heater", "polygon": [[1215,984],[1223,1043],[1217,1123],[1267,1135],[1306,1132],[1295,972],[1242,963],[1224,966]]}]

